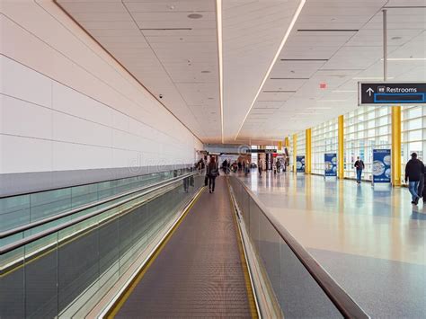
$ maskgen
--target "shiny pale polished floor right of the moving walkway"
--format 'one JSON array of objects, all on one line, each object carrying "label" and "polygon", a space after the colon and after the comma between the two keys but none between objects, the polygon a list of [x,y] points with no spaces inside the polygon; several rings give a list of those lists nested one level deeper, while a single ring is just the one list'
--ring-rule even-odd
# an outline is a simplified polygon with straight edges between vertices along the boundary
[{"label": "shiny pale polished floor right of the moving walkway", "polygon": [[426,317],[426,204],[407,189],[253,171],[240,175],[374,318]]}]

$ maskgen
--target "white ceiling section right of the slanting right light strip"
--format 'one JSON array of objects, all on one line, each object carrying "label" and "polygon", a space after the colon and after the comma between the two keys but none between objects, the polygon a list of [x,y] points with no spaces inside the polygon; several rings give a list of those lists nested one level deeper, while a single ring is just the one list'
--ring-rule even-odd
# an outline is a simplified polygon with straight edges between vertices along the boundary
[{"label": "white ceiling section right of the slanting right light strip", "polygon": [[[426,4],[410,3],[423,8],[387,9],[389,58],[426,58]],[[391,4],[386,1],[306,2],[263,87],[263,90],[296,92],[283,96],[280,107],[266,113],[268,117],[258,120],[256,125],[246,121],[238,139],[283,138],[356,108],[358,82],[383,76],[381,10],[384,5]],[[408,2],[392,5],[406,6]],[[347,19],[348,14],[359,19]],[[314,16],[315,19],[309,18]],[[354,25],[354,21],[362,23]],[[389,61],[388,74],[392,81],[426,81],[426,61]],[[270,103],[260,100],[251,113],[258,114],[258,104],[264,107]],[[280,103],[278,99],[271,100],[276,105]]]}]

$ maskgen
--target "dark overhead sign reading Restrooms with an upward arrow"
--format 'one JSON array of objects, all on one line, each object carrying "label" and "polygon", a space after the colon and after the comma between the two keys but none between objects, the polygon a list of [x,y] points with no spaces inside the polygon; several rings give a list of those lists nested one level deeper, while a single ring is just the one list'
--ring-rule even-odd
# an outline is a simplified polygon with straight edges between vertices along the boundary
[{"label": "dark overhead sign reading Restrooms with an upward arrow", "polygon": [[358,105],[426,104],[426,83],[358,84]]}]

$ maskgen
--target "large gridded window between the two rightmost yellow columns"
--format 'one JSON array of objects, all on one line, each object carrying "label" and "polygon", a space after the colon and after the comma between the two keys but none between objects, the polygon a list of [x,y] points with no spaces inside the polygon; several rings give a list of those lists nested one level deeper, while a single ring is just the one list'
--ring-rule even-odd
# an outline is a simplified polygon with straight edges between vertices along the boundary
[{"label": "large gridded window between the two rightmost yellow columns", "polygon": [[364,161],[364,179],[371,180],[373,149],[391,148],[391,109],[363,106],[344,116],[344,176],[355,178],[357,156]]}]

